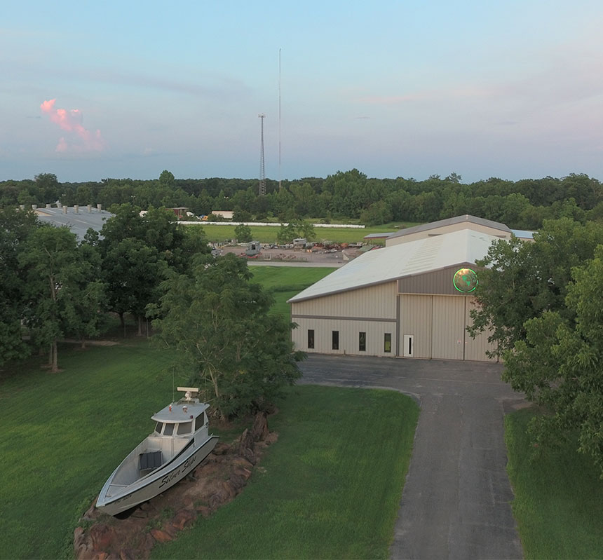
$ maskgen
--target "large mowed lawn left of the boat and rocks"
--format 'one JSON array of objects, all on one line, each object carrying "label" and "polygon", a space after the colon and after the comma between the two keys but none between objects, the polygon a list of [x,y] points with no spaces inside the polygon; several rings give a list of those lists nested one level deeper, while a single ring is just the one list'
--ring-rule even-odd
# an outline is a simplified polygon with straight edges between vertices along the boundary
[{"label": "large mowed lawn left of the boat and rocks", "polygon": [[72,555],[75,521],[171,399],[174,359],[144,341],[60,348],[58,374],[34,362],[5,372],[0,557]]}]

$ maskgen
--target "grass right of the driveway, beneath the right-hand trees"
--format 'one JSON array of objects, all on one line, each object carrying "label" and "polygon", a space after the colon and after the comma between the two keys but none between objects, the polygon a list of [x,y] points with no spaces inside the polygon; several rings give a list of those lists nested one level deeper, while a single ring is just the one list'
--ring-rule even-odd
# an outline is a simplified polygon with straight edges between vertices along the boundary
[{"label": "grass right of the driveway, beneath the right-hand trees", "polygon": [[530,460],[529,409],[505,418],[513,514],[527,559],[603,558],[603,480],[576,442]]}]

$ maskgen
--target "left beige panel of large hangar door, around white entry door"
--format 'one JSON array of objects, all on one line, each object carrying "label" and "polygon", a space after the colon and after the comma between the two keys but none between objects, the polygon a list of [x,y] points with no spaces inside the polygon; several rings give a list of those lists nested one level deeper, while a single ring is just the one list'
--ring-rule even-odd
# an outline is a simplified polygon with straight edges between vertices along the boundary
[{"label": "left beige panel of large hangar door, around white entry door", "polygon": [[414,335],[413,357],[431,357],[432,297],[400,296],[400,355],[405,334]]}]

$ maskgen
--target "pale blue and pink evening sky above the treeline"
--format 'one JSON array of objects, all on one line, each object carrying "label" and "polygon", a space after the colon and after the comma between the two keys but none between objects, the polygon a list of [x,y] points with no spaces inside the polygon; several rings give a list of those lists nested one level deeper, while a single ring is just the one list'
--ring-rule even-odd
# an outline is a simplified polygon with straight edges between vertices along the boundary
[{"label": "pale blue and pink evening sky above the treeline", "polygon": [[[29,0],[0,180],[603,180],[600,0]],[[279,117],[280,112],[280,117]]]}]

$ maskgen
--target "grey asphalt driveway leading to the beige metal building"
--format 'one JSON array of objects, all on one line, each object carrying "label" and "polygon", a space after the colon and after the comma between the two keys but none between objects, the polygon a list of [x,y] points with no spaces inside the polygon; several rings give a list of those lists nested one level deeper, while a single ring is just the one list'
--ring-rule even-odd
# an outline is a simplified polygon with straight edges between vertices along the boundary
[{"label": "grey asphalt driveway leading to the beige metal building", "polygon": [[393,559],[521,559],[503,414],[524,400],[499,364],[309,355],[301,383],[391,388],[421,405]]}]

